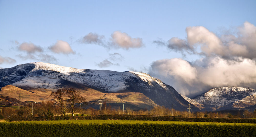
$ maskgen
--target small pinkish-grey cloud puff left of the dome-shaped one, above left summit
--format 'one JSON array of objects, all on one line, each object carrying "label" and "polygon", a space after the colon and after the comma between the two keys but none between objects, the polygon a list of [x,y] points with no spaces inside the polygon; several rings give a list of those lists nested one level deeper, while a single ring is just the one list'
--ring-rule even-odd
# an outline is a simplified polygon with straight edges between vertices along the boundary
[{"label": "small pinkish-grey cloud puff left of the dome-shaped one, above left summit", "polygon": [[[15,43],[18,44],[18,42],[15,40]],[[27,53],[35,53],[35,52],[42,52],[43,49],[40,46],[36,46],[33,43],[27,43],[23,42],[22,44],[19,45],[19,50],[21,51],[26,51]]]}]

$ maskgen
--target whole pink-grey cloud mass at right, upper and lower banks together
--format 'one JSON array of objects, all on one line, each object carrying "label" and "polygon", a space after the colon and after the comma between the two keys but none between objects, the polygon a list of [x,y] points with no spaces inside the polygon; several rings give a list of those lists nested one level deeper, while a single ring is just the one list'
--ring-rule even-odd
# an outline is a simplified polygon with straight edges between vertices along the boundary
[{"label": "whole pink-grey cloud mass at right, upper and lower banks together", "polygon": [[[163,79],[178,92],[194,97],[210,88],[256,88],[256,27],[245,22],[236,33],[217,36],[203,26],[187,27],[187,38],[154,41],[173,51],[201,55],[188,62],[181,58],[157,60],[150,74]],[[198,50],[199,49],[199,50]]]}]

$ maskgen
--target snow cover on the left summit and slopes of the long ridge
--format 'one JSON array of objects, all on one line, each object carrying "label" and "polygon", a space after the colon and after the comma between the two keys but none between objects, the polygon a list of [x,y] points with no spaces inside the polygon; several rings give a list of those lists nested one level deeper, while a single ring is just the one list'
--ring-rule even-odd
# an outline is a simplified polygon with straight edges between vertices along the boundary
[{"label": "snow cover on the left summit and slopes of the long ridge", "polygon": [[[74,69],[49,63],[35,62],[26,65],[35,67],[25,78],[12,83],[14,86],[28,86],[37,88],[56,88],[59,79],[65,79],[74,83],[93,85],[103,88],[107,92],[116,92],[126,89],[125,78],[135,77],[130,72],[115,72],[107,70]],[[32,65],[32,66],[33,66]],[[12,74],[12,75],[15,75]]]}]

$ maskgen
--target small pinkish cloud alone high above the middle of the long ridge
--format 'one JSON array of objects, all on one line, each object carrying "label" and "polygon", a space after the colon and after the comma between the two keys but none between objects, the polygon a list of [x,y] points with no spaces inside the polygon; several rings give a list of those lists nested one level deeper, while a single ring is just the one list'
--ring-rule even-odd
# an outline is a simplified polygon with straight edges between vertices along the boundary
[{"label": "small pinkish cloud alone high above the middle of the long ridge", "polygon": [[115,31],[111,37],[111,45],[124,49],[140,48],[144,45],[142,38],[132,38],[125,32]]}]

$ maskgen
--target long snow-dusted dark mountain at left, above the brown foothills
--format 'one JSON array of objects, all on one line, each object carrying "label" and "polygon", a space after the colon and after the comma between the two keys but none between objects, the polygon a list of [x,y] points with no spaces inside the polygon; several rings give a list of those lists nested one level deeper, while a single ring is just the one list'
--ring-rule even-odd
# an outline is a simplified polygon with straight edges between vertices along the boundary
[{"label": "long snow-dusted dark mountain at left, above the brown foothills", "polygon": [[26,90],[57,90],[71,85],[81,90],[89,87],[104,93],[140,92],[160,106],[170,107],[175,104],[177,109],[183,110],[188,105],[173,87],[140,72],[75,69],[34,62],[0,69],[0,88],[7,85]]}]

